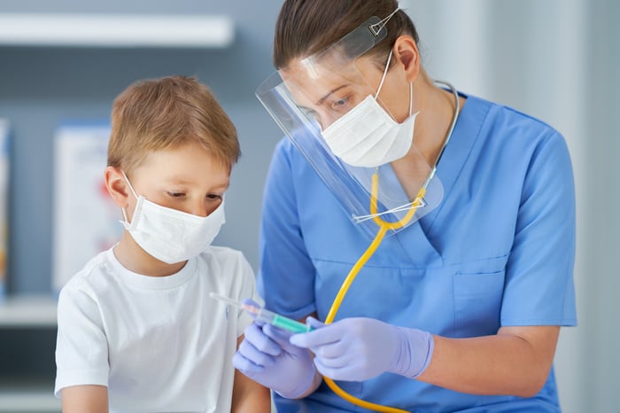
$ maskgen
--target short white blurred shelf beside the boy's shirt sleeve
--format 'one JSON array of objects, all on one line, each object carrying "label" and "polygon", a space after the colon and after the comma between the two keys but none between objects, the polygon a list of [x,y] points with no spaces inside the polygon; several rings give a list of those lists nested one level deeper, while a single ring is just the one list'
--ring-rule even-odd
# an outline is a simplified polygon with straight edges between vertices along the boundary
[{"label": "short white blurred shelf beside the boy's shirt sleeve", "polygon": [[57,305],[58,300],[50,295],[6,297],[0,301],[0,328],[56,327]]}]

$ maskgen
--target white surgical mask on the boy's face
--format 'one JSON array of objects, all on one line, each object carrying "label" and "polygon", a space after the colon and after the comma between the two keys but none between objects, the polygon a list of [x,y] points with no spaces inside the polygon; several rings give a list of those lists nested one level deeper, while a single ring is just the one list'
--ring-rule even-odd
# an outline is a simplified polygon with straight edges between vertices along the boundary
[{"label": "white surgical mask on the boy's face", "polygon": [[197,256],[211,245],[226,222],[223,199],[220,206],[207,216],[188,214],[162,207],[142,195],[137,196],[127,175],[122,174],[137,199],[131,222],[122,208],[125,217],[122,224],[137,245],[159,261],[174,264]]}]

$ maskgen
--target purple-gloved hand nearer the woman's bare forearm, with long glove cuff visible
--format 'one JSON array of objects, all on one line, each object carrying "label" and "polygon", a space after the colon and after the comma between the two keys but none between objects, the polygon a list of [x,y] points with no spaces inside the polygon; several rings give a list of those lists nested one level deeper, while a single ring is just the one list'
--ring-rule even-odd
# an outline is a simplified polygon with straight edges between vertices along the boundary
[{"label": "purple-gloved hand nearer the woman's bare forearm, with long glove cuff visible", "polygon": [[312,317],[314,331],[295,334],[291,343],[314,353],[323,376],[363,381],[384,372],[416,378],[426,370],[434,341],[427,331],[396,327],[373,318],[345,318],[322,324]]}]

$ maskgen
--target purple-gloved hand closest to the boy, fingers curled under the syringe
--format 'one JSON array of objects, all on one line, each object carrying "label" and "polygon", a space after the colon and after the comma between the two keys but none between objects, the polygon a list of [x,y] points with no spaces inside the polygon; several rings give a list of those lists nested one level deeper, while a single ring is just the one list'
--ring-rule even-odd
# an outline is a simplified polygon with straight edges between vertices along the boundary
[{"label": "purple-gloved hand closest to the boy, fingers curled under the syringe", "polygon": [[295,399],[313,385],[316,370],[306,348],[293,346],[291,333],[252,323],[233,357],[237,370],[277,394]]}]

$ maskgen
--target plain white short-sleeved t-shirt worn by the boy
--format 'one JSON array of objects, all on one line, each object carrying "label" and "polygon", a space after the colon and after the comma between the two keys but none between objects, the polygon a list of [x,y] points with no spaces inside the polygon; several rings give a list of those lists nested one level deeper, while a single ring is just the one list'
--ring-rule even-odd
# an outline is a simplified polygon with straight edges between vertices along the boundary
[{"label": "plain white short-sleeved t-shirt worn by the boy", "polygon": [[98,254],[60,292],[55,394],[101,385],[113,412],[229,412],[236,339],[252,319],[209,292],[257,300],[254,287],[244,255],[225,247],[168,277]]}]

